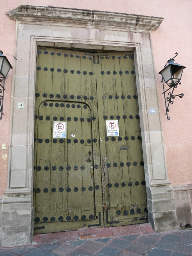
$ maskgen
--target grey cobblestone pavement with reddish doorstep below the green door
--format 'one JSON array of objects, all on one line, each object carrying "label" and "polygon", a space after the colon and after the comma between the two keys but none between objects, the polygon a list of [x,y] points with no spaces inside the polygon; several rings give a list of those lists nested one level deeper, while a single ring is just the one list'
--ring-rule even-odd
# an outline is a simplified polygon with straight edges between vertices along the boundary
[{"label": "grey cobblestone pavement with reddish doorstep below the green door", "polygon": [[34,235],[0,256],[192,256],[192,228],[155,233],[149,224]]}]

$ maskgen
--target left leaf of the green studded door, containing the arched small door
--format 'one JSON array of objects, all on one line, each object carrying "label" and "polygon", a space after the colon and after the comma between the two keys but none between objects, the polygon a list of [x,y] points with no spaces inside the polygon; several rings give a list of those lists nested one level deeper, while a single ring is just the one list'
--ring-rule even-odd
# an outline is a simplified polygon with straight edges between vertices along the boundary
[{"label": "left leaf of the green studded door, containing the arched small door", "polygon": [[37,51],[35,233],[103,225],[96,67],[79,54]]}]

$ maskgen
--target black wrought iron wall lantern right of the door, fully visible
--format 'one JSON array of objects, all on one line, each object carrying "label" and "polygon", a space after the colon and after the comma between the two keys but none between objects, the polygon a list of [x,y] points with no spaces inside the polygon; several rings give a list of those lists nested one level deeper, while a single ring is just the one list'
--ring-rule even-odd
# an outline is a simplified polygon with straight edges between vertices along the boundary
[{"label": "black wrought iron wall lantern right of the door, fully visible", "polygon": [[[169,104],[173,104],[173,99],[176,96],[179,96],[179,98],[183,98],[184,94],[177,94],[177,95],[173,95],[173,91],[175,90],[175,88],[177,88],[177,85],[180,85],[181,82],[181,78],[182,78],[182,74],[183,74],[183,70],[184,66],[178,64],[178,63],[174,63],[174,58],[177,56],[177,52],[175,53],[176,55],[171,58],[170,60],[167,61],[167,63],[165,64],[164,68],[159,72],[159,74],[162,75],[162,82],[163,82],[163,94],[164,94],[164,99],[165,99],[165,108],[166,108],[166,114],[167,115],[167,119],[169,120],[170,117],[168,117],[168,112],[169,112]],[[169,88],[167,90],[165,90],[164,88],[164,83],[166,83]],[[172,89],[172,92],[169,92],[167,97],[165,96],[165,93]],[[167,104],[168,103],[168,104]]]}]

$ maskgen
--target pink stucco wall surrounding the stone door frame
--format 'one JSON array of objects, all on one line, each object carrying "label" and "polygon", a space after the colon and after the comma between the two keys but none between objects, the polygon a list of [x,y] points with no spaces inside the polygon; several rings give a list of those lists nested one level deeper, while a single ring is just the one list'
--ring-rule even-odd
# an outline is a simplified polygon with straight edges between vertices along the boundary
[{"label": "pink stucco wall surrounding the stone door frame", "polygon": [[[6,12],[20,5],[57,6],[67,8],[92,9],[108,12],[130,13],[163,17],[164,21],[156,31],[151,33],[152,47],[155,63],[155,75],[160,101],[162,130],[167,158],[168,177],[172,184],[192,183],[192,104],[191,78],[192,73],[192,1],[191,0],[1,0],[0,22],[0,50],[5,55],[15,54],[16,22],[10,20]],[[182,85],[178,86],[177,92],[185,96],[176,98],[170,106],[168,121],[164,115],[164,97],[162,94],[161,76],[158,72],[163,68],[166,61],[173,57],[175,52],[179,55],[176,62],[186,66]],[[14,63],[14,57],[8,56],[10,63]],[[10,120],[10,95],[12,75],[11,70],[6,79],[6,91],[3,112],[5,115],[0,120],[0,196],[7,188],[8,170],[8,147],[9,147],[9,120]],[[153,106],[152,106],[153,107]],[[6,150],[2,150],[2,143],[6,143]]]}]

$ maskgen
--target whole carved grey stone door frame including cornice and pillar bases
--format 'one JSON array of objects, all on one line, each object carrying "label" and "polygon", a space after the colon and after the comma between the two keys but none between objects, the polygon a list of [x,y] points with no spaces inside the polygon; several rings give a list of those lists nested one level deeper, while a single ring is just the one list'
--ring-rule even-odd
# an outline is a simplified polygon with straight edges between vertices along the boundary
[{"label": "whole carved grey stone door frame including cornice and pillar bases", "polygon": [[[16,20],[17,60],[13,67],[8,189],[1,202],[1,246],[27,244],[33,237],[37,46],[134,52],[149,223],[155,231],[176,229],[150,40],[150,32],[163,18],[31,5],[19,6],[7,15]],[[17,109],[17,102],[24,102],[24,109]],[[156,108],[156,114],[149,113],[150,107]]]}]

